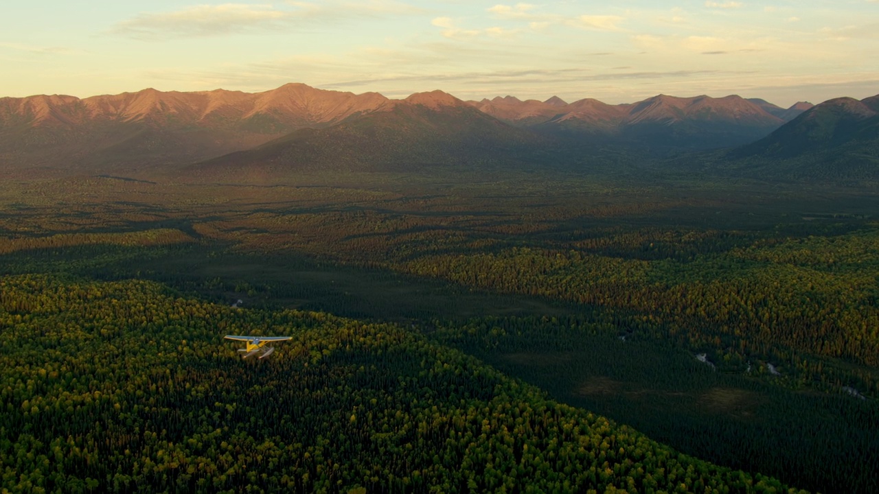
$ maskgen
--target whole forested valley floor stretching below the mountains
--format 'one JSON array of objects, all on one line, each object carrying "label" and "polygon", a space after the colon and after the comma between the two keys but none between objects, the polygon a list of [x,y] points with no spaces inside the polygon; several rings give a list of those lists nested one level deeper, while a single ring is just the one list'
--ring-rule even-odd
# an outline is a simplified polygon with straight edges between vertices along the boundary
[{"label": "whole forested valley floor stretching below the mountains", "polygon": [[872,192],[434,179],[3,185],[4,489],[879,490]]}]

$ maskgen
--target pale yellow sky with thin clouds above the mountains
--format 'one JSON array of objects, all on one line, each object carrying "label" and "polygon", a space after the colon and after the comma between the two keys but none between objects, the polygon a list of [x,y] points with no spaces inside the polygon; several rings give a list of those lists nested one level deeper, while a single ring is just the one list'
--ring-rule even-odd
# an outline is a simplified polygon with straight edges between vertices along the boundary
[{"label": "pale yellow sky with thin clouds above the mountains", "polygon": [[5,1],[0,97],[287,83],[610,104],[879,94],[879,0],[498,1]]}]

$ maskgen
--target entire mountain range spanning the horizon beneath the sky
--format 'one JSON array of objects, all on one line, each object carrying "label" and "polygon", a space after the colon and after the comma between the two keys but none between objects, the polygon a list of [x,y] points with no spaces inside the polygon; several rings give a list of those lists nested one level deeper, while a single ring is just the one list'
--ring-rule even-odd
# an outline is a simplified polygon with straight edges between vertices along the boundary
[{"label": "entire mountain range spanning the horizon beneath the sky", "polygon": [[41,95],[0,98],[0,163],[7,169],[76,172],[184,165],[204,172],[247,164],[266,170],[388,171],[577,161],[575,156],[607,149],[667,156],[729,148],[721,168],[766,171],[766,163],[799,163],[807,153],[812,163],[807,174],[832,163],[833,170],[854,166],[843,175],[862,176],[865,170],[873,173],[877,111],[877,97],[781,108],[735,95],[660,94],[607,105],[557,97],[462,101],[443,91],[389,99],[305,84],[257,93],[147,89],[83,99]]}]

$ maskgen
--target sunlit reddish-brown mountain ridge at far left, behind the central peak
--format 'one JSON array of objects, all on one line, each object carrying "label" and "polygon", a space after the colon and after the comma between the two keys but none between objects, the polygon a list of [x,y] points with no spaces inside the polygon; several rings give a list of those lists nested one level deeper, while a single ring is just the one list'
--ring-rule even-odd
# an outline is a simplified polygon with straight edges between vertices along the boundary
[{"label": "sunlit reddish-brown mountain ridge at far left, behind the central peak", "polygon": [[390,100],[286,84],[273,91],[0,98],[0,159],[28,166],[192,163],[250,149],[302,127],[325,127]]}]

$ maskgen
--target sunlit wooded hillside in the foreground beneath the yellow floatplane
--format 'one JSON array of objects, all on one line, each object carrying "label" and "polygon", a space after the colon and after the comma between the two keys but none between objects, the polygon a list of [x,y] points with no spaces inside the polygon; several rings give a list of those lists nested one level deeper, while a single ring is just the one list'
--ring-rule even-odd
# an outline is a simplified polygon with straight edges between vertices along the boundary
[{"label": "sunlit wooded hillside in the foreground beneath the yellow floatplane", "polygon": [[[397,326],[152,282],[2,281],[12,492],[776,492]],[[265,362],[224,332],[290,334]]]}]

